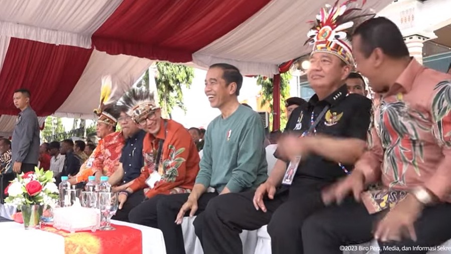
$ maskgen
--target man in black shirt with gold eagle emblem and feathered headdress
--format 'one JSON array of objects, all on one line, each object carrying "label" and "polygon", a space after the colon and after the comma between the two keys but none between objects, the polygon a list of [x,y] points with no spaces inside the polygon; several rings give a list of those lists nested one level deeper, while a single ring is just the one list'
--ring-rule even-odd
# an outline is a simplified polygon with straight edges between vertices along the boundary
[{"label": "man in black shirt with gold eagle emblem and feathered headdress", "polygon": [[325,253],[304,251],[303,228],[325,208],[321,189],[347,175],[363,153],[370,123],[371,101],[348,95],[345,84],[354,66],[351,30],[361,15],[354,2],[337,1],[316,16],[307,35],[313,45],[307,78],[315,95],[293,110],[268,180],[255,191],[212,199],[203,223],[194,224],[205,254],[243,253],[242,230],[266,224],[273,254]]}]

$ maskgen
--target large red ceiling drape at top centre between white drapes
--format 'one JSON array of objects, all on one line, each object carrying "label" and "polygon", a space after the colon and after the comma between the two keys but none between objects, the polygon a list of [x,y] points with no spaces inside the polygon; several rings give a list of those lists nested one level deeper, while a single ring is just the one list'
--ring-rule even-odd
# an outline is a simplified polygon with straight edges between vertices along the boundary
[{"label": "large red ceiling drape at top centre between white drapes", "polygon": [[192,53],[227,34],[270,1],[124,0],[92,40],[97,50],[110,55],[189,62]]}]

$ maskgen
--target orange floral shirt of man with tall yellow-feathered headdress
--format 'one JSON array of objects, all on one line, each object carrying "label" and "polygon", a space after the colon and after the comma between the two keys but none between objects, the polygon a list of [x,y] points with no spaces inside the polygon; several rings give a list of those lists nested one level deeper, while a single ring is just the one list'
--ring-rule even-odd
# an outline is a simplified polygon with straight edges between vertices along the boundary
[{"label": "orange floral shirt of man with tall yellow-feathered headdress", "polygon": [[80,172],[77,174],[77,183],[87,181],[88,177],[97,171],[111,176],[119,166],[124,144],[125,138],[122,132],[111,133],[101,139],[89,159],[81,166]]}]

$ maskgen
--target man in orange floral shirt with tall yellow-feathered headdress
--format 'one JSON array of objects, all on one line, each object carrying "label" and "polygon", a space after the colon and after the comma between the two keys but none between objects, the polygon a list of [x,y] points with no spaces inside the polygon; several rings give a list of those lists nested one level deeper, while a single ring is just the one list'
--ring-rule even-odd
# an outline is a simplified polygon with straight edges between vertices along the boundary
[{"label": "man in orange floral shirt with tall yellow-feathered headdress", "polygon": [[71,184],[88,181],[90,175],[110,176],[119,166],[119,158],[125,139],[121,132],[116,132],[119,111],[113,98],[111,76],[102,77],[99,108],[94,109],[97,118],[96,134],[100,138],[88,160],[83,163],[77,175],[69,178]]}]

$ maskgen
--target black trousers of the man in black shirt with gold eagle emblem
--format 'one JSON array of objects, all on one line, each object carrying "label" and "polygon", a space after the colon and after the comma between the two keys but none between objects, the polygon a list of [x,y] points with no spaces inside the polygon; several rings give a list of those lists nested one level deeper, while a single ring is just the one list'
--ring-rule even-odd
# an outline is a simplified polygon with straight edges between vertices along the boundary
[{"label": "black trousers of the man in black shirt with gold eagle emblem", "polygon": [[290,189],[280,188],[272,200],[265,198],[267,212],[254,207],[254,191],[211,200],[203,213],[202,225],[194,224],[204,253],[243,253],[239,235],[242,230],[256,230],[266,224],[273,254],[303,253],[301,228],[306,218],[324,208],[320,190],[329,183],[302,182]]}]

